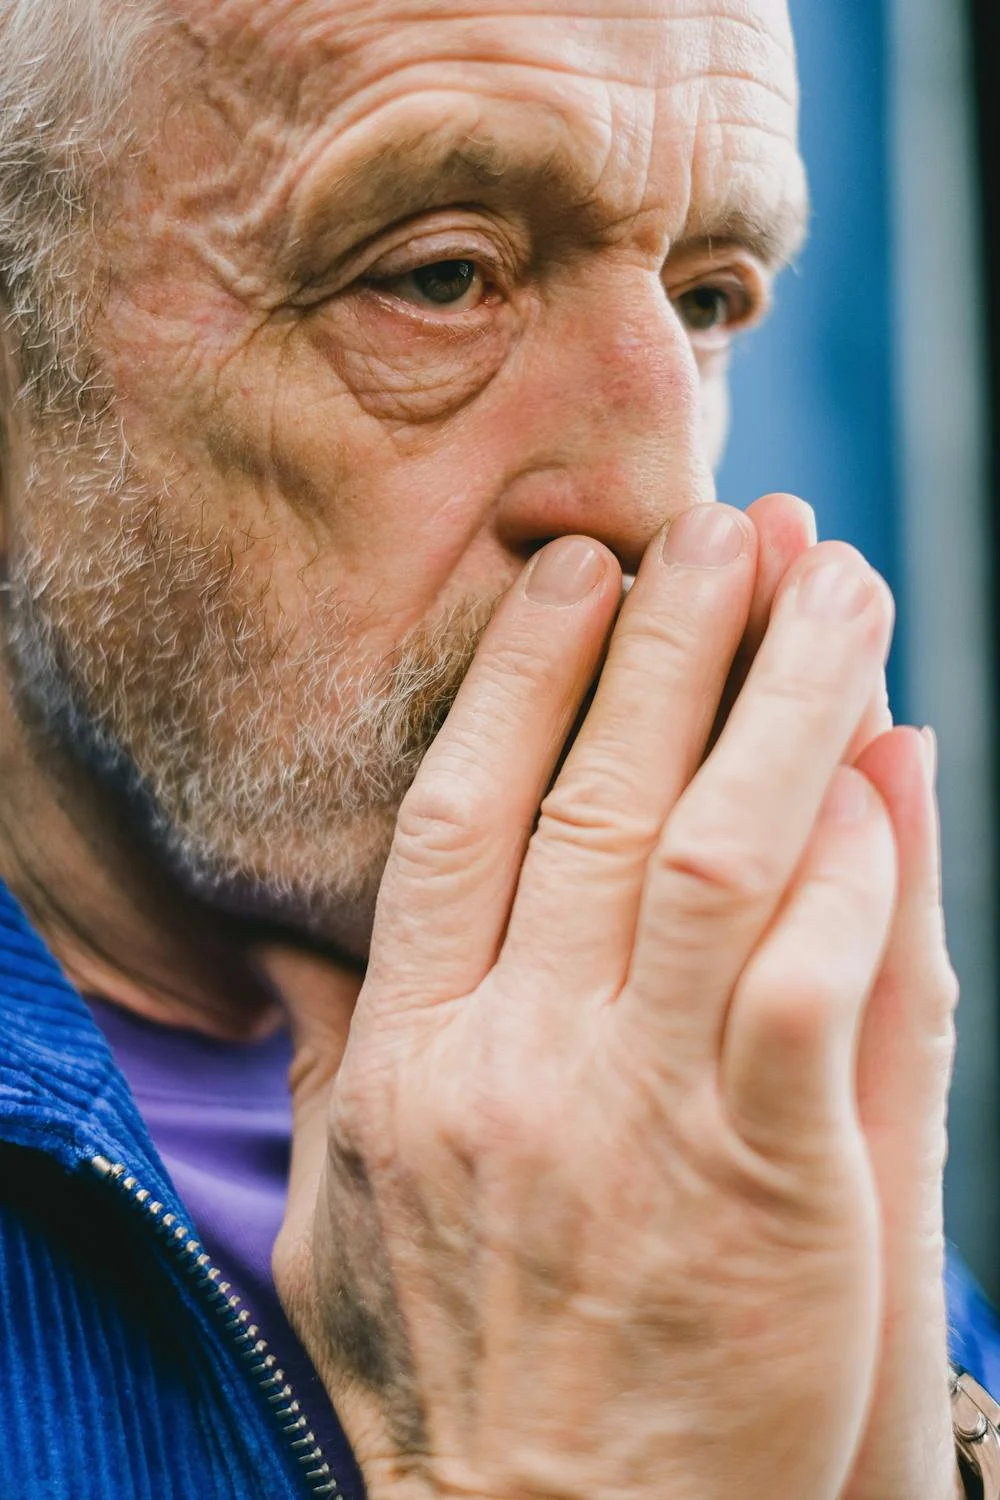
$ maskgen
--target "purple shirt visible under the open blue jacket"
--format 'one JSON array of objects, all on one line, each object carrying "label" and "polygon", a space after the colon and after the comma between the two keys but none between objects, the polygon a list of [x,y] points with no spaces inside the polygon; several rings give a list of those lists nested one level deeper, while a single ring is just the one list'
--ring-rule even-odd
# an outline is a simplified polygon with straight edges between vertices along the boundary
[{"label": "purple shirt visible under the open blue jacket", "polygon": [[271,1278],[291,1155],[288,1032],[255,1042],[217,1041],[94,996],[87,1004],[205,1252],[288,1376],[340,1492],[361,1496],[348,1440]]}]

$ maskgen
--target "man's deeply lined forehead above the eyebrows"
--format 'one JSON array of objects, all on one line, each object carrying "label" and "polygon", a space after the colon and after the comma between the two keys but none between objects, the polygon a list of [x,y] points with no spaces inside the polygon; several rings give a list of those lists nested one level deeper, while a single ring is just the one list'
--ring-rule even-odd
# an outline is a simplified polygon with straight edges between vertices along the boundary
[{"label": "man's deeply lined forehead above the eyebrows", "polygon": [[805,195],[784,0],[171,9],[198,48],[202,98],[249,147],[258,202],[298,210],[334,178],[364,196],[373,160],[382,196],[420,171],[445,198],[450,176],[456,192],[477,174],[513,189],[523,168],[553,206],[562,194],[609,220],[660,213],[670,238],[712,232],[735,207],[793,248]]}]

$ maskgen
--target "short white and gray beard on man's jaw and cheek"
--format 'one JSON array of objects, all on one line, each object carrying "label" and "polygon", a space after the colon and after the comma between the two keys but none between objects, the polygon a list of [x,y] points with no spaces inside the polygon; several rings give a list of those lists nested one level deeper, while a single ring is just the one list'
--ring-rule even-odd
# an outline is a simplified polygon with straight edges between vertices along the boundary
[{"label": "short white and gray beard on man's jaw and cheek", "polygon": [[318,594],[297,640],[225,536],[180,531],[123,438],[64,442],[33,442],[10,538],[25,717],[127,800],[201,897],[316,936],[364,922],[399,804],[495,602],[372,660]]}]

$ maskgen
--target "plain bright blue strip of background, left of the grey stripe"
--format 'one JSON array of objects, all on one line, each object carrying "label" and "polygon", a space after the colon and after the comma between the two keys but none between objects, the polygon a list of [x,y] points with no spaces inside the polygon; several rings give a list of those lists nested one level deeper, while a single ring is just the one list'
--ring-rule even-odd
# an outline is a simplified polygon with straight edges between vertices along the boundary
[{"label": "plain bright blue strip of background, left of the grey stripe", "polygon": [[[772,318],[736,350],[720,498],[802,495],[820,536],[861,548],[903,603],[886,14],[877,0],[790,9],[811,232]],[[891,686],[906,717],[898,668]]]}]

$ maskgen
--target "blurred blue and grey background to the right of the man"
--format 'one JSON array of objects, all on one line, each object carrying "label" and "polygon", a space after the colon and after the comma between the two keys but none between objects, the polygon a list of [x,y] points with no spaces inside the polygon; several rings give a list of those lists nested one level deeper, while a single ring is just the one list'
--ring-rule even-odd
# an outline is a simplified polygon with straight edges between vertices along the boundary
[{"label": "blurred blue and grey background to the right of the man", "polygon": [[786,489],[889,580],[897,720],[942,746],[963,982],[951,1238],[1000,1298],[988,382],[964,0],[790,0],[811,236],[736,351],[720,498]]}]

